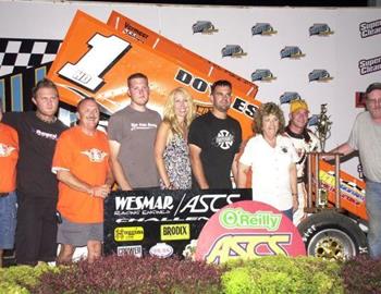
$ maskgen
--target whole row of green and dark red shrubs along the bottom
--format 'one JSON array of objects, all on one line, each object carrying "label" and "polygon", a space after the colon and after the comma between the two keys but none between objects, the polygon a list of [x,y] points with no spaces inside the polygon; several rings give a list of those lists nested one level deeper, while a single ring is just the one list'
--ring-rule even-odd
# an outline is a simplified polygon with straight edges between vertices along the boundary
[{"label": "whole row of green and dark red shrubs along the bottom", "polygon": [[[110,256],[94,265],[81,261],[70,267],[20,266],[0,269],[0,294],[342,294],[343,272],[348,278],[345,282],[346,293],[361,293],[361,289],[370,285],[373,293],[379,293],[374,292],[381,277],[379,262],[372,264],[369,270],[374,279],[364,270],[369,267],[369,260],[337,264],[312,257],[274,256],[232,261],[216,268],[190,260]],[[353,275],[359,279],[351,279]],[[372,284],[370,278],[374,280]],[[356,280],[356,283],[349,283],[349,280]],[[369,283],[368,287],[365,283]]]}]

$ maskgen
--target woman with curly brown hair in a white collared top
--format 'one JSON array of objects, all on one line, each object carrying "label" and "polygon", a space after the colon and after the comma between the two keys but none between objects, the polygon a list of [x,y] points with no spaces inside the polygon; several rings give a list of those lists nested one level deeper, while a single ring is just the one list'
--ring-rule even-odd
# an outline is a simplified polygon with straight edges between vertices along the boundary
[{"label": "woman with curly brown hair in a white collared top", "polygon": [[293,220],[297,209],[297,156],[288,137],[283,136],[284,115],[273,102],[265,103],[254,118],[254,132],[238,164],[237,187],[246,187],[251,168],[253,200],[275,207]]}]

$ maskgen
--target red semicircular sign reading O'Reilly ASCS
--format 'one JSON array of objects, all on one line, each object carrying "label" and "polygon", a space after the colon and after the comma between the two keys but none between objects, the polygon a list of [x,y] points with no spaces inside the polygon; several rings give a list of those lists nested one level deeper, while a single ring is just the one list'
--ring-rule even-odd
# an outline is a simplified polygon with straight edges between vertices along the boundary
[{"label": "red semicircular sign reading O'Reilly ASCS", "polygon": [[223,264],[261,256],[306,255],[292,221],[275,208],[258,201],[238,201],[213,215],[204,226],[196,259]]}]

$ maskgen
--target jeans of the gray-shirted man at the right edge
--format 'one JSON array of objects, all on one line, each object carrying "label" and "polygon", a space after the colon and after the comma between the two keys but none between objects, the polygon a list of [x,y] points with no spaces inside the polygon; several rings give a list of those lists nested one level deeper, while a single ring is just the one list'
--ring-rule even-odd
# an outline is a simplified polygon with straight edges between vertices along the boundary
[{"label": "jeans of the gray-shirted man at the right edge", "polygon": [[381,183],[367,181],[368,245],[371,258],[381,258]]}]

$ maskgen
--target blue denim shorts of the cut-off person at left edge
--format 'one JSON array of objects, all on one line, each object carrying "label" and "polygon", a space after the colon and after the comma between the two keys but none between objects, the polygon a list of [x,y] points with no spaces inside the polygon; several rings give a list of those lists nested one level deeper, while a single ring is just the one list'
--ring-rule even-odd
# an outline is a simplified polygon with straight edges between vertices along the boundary
[{"label": "blue denim shorts of the cut-off person at left edge", "polygon": [[16,230],[16,193],[0,196],[0,249],[12,249]]}]

